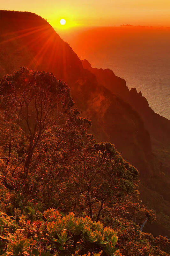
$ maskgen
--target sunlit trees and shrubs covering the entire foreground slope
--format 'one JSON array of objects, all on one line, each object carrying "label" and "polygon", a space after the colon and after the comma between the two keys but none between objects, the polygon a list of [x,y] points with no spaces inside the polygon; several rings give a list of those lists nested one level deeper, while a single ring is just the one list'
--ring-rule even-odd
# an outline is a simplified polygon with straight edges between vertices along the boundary
[{"label": "sunlit trees and shrubs covering the entire foreground slope", "polygon": [[87,133],[67,84],[21,68],[1,79],[0,97],[1,254],[168,255],[167,238],[142,232],[155,215],[137,170]]}]

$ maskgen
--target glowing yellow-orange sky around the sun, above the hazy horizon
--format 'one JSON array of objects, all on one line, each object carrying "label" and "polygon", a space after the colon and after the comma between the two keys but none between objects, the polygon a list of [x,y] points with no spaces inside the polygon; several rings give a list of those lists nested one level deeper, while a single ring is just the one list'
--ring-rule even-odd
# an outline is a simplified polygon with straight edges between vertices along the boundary
[{"label": "glowing yellow-orange sky around the sun, above the hazy horizon", "polygon": [[[0,0],[0,9],[35,12],[60,29],[119,26],[170,26],[170,0]],[[66,25],[60,25],[60,19]]]}]

